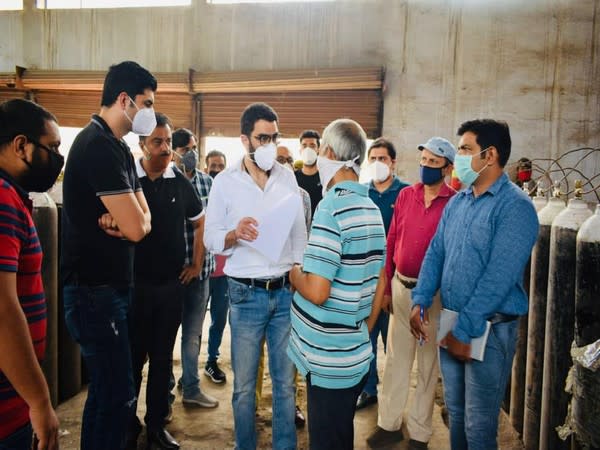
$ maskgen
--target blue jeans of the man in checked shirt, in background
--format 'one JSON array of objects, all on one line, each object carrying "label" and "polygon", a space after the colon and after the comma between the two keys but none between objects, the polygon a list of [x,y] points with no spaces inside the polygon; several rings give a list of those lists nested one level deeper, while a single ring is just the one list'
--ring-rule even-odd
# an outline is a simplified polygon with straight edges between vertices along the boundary
[{"label": "blue jeans of the man in checked shirt, in background", "polygon": [[183,396],[191,398],[200,392],[198,355],[208,303],[208,279],[194,278],[184,289],[181,315],[181,386]]}]

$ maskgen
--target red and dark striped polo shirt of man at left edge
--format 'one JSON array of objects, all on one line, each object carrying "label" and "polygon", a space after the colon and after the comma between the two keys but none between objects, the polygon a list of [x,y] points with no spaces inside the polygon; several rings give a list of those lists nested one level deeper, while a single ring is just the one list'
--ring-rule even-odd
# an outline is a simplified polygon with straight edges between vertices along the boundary
[{"label": "red and dark striped polo shirt of man at left edge", "polygon": [[[46,299],[41,275],[42,248],[31,208],[27,193],[0,171],[0,270],[17,274],[17,296],[36,356],[41,360],[46,349]],[[0,371],[0,439],[28,422],[29,407]]]}]

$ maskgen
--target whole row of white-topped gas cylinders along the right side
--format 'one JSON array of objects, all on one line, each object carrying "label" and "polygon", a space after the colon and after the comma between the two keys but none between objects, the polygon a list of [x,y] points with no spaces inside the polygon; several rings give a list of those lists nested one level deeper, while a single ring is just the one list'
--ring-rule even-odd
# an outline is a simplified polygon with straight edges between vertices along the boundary
[{"label": "whole row of white-topped gas cylinders along the right side", "polygon": [[571,358],[572,347],[600,340],[600,205],[593,212],[579,198],[565,205],[555,197],[534,204],[540,233],[525,273],[529,314],[520,324],[510,419],[527,450],[600,448],[600,370]]}]

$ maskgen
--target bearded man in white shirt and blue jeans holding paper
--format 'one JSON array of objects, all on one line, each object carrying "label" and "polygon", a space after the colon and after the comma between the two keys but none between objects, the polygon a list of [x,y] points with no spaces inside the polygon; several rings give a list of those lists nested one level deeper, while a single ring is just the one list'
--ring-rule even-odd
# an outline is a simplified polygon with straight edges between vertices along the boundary
[{"label": "bearded man in white shirt and blue jeans holding paper", "polygon": [[[266,339],[273,384],[273,444],[296,447],[294,372],[286,355],[292,294],[288,272],[302,260],[306,226],[297,212],[278,260],[248,245],[260,233],[257,217],[269,214],[286,193],[298,196],[294,174],[275,162],[277,114],[264,103],[249,105],[241,117],[246,155],[215,178],[206,211],[204,243],[227,256],[231,304],[233,415],[237,449],[256,448],[255,388],[261,341]],[[282,217],[283,219],[283,217]]]}]

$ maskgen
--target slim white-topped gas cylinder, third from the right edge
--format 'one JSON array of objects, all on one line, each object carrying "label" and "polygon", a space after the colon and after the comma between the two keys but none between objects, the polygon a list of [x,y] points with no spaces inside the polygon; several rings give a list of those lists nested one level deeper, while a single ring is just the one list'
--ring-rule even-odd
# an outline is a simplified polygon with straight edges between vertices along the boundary
[{"label": "slim white-topped gas cylinder, third from the right edge", "polygon": [[[541,202],[538,201],[538,203]],[[564,209],[565,202],[558,197],[552,197],[546,206],[539,210],[540,232],[531,253],[523,413],[523,442],[527,450],[537,450],[539,447],[550,229],[556,216]]]}]

